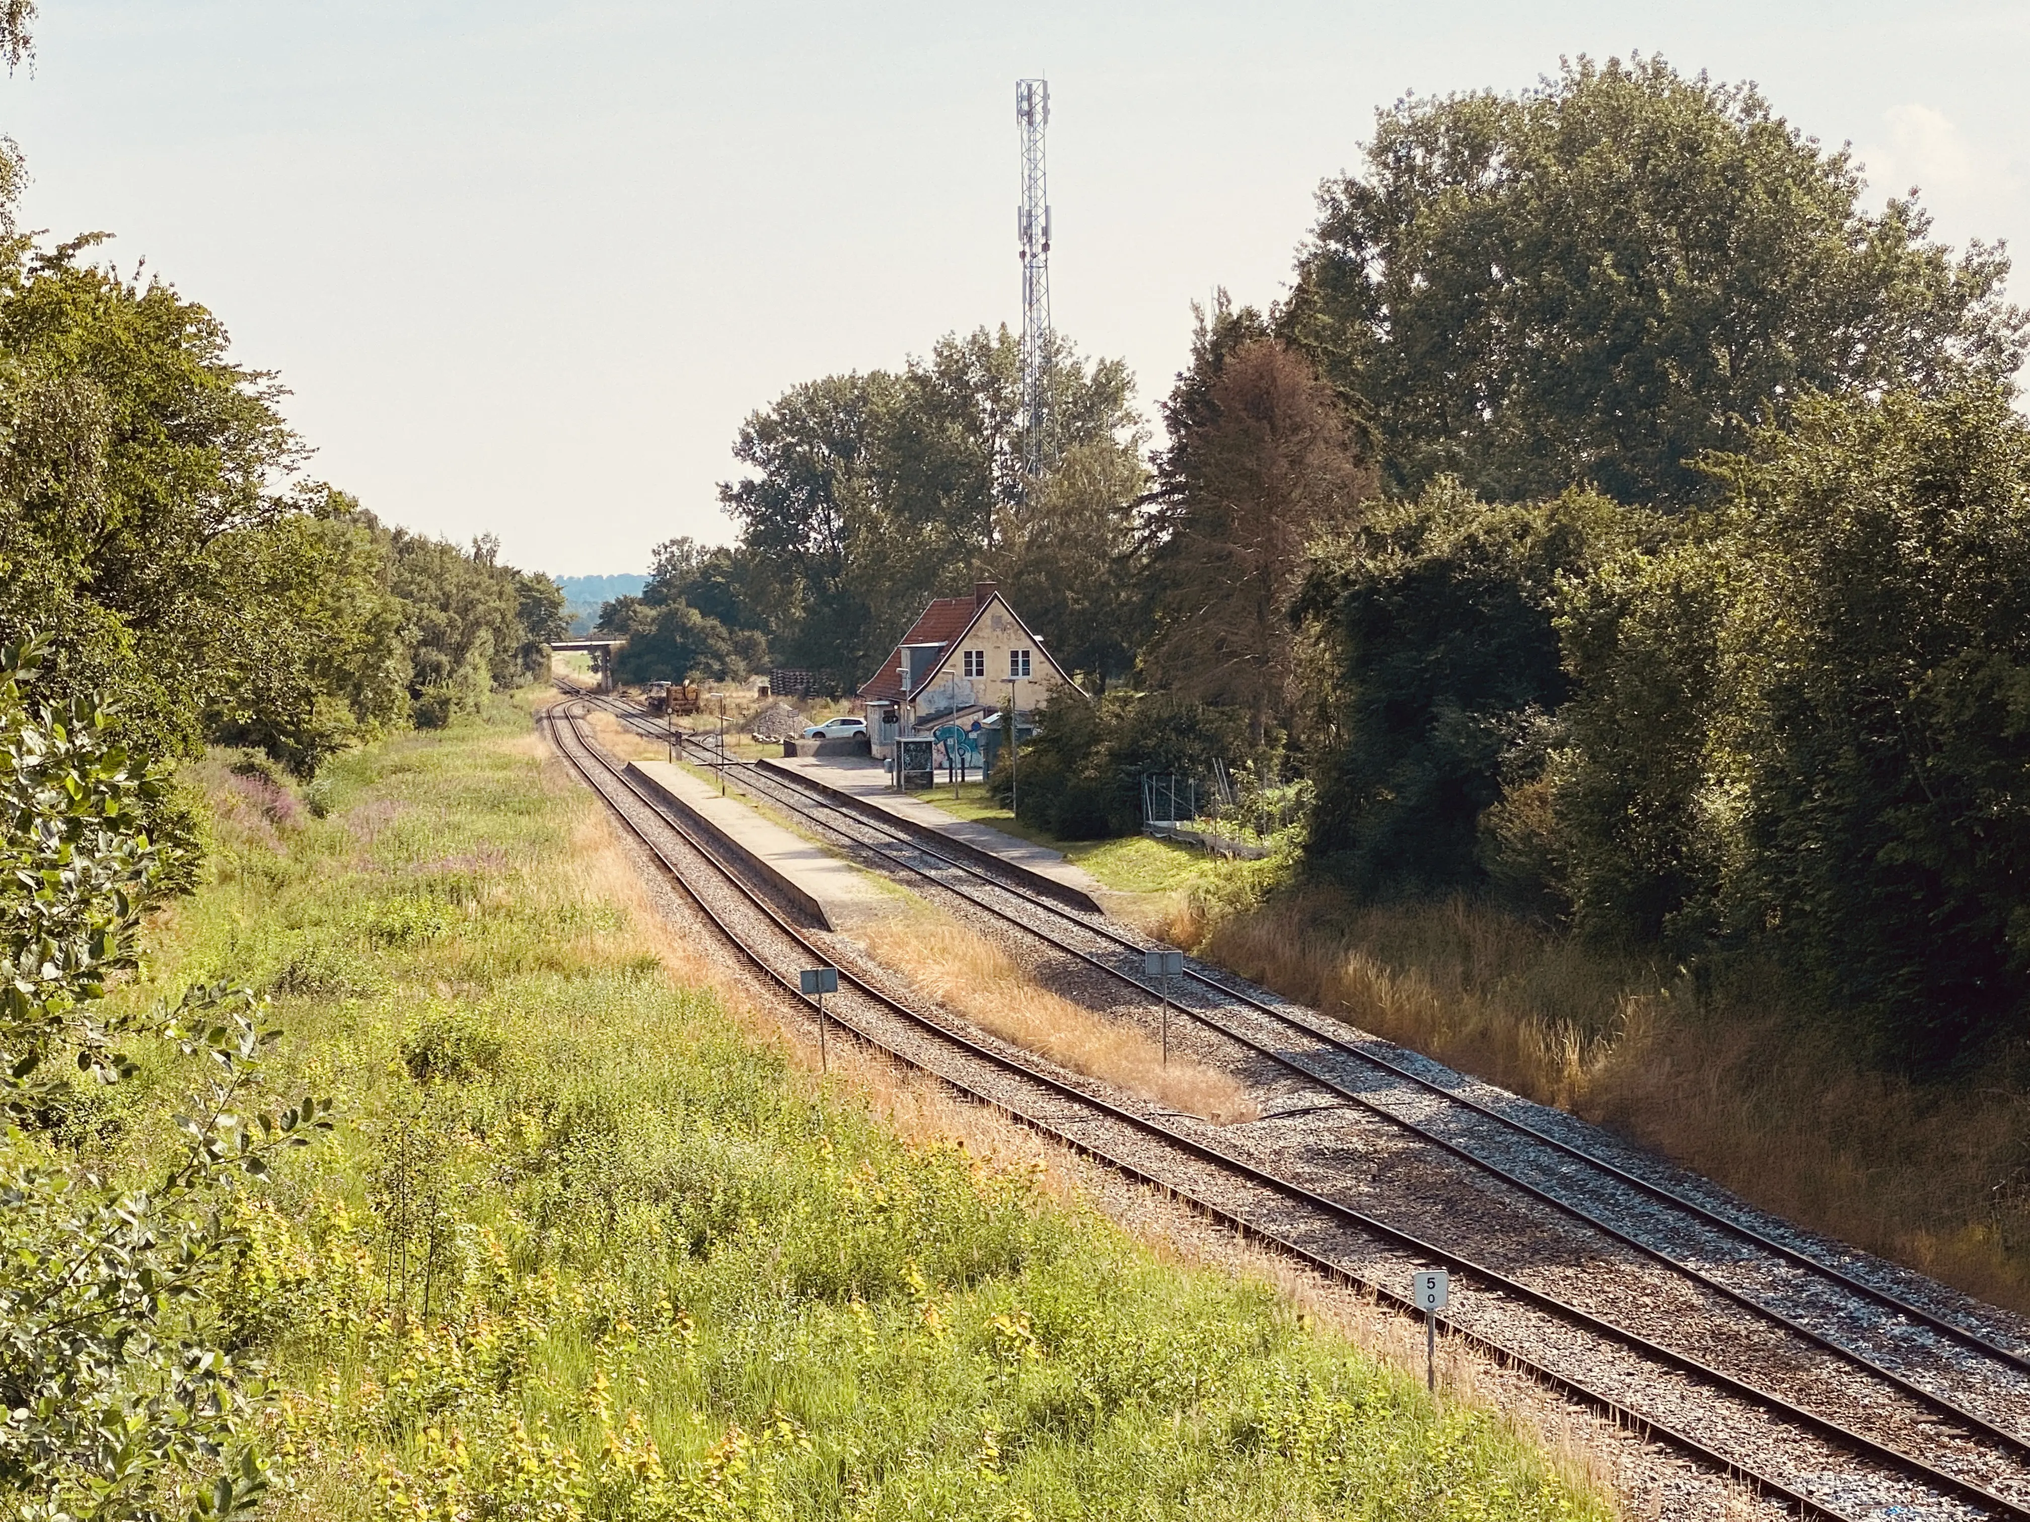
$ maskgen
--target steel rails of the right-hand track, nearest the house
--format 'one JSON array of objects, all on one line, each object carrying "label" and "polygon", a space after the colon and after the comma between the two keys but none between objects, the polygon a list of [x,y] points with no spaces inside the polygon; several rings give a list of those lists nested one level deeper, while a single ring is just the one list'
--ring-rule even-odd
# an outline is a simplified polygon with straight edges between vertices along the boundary
[{"label": "steel rails of the right-hand track, nearest the house", "polygon": [[[633,714],[629,714],[625,710],[621,710],[619,716],[627,718],[627,720],[633,718]],[[700,745],[694,737],[688,737],[686,731],[676,731],[676,735],[680,739],[690,739],[690,743],[696,745],[700,751],[710,753],[710,747]],[[715,761],[715,765],[745,765],[745,767],[753,767],[753,763],[735,763],[735,761],[723,761],[723,759]],[[849,810],[842,804],[838,804],[834,800],[828,800],[828,798],[824,798],[822,793],[816,793],[810,787],[802,787],[798,783],[798,779],[794,779],[794,777],[780,775],[780,773],[767,773],[767,775],[769,775],[769,781],[773,781],[777,785],[784,785],[784,787],[790,787],[790,789],[796,789],[804,798],[816,795],[816,800],[826,810],[830,810],[830,812],[847,814],[855,822],[865,824],[871,830],[879,830],[881,834],[887,834],[891,840],[895,840],[899,844],[907,844],[911,850],[928,854],[928,856],[944,862],[946,867],[952,867],[952,869],[956,869],[956,871],[960,871],[960,873],[964,873],[968,877],[976,877],[976,879],[980,879],[985,883],[991,883],[999,891],[1009,893],[1009,895],[1021,899],[1023,903],[1027,903],[1031,907],[1043,909],[1047,913],[1054,913],[1060,919],[1068,919],[1074,925],[1078,925],[1080,929],[1084,929],[1084,931],[1088,931],[1092,936],[1098,936],[1100,940],[1108,940],[1114,946],[1121,946],[1123,950],[1129,950],[1129,952],[1145,952],[1145,950],[1149,950],[1145,946],[1139,946],[1131,938],[1121,936],[1119,931],[1108,929],[1106,925],[1094,925],[1090,919],[1078,915],[1076,911],[1066,909],[1064,905],[1052,903],[1050,899],[1037,897],[1035,893],[1029,893],[1027,889],[1023,889],[1019,885],[1007,883],[1005,879],[999,879],[993,873],[987,873],[987,871],[983,871],[983,869],[978,869],[978,867],[974,867],[970,862],[956,860],[952,856],[944,856],[934,846],[930,846],[924,840],[911,836],[909,834],[911,826],[907,826],[905,822],[887,822],[887,820],[869,818],[867,814],[861,814],[859,810]],[[782,802],[782,800],[771,800],[771,802]],[[786,808],[796,808],[794,804],[784,804],[784,806]],[[822,824],[822,820],[818,820],[810,810],[796,808],[796,812],[804,814],[806,818],[812,818],[812,820],[816,820],[816,822]],[[857,844],[867,844],[867,842],[857,842]],[[897,864],[905,867],[907,871],[916,871],[920,875],[932,877],[930,873],[924,873],[924,869],[920,869],[920,867],[909,867],[909,862],[897,862]],[[936,879],[932,879],[932,881],[936,881]],[[944,887],[950,887],[950,885],[944,885]],[[1098,966],[1100,970],[1104,970],[1108,976],[1114,976],[1114,978],[1127,982],[1129,986],[1137,988],[1139,992],[1149,994],[1151,998],[1159,998],[1159,1000],[1171,1005],[1171,1009],[1177,1009],[1177,1011],[1181,1011],[1181,1013],[1186,1013],[1186,1015],[1190,1015],[1194,1019],[1200,1019],[1204,1025],[1210,1025],[1212,1029],[1220,1031],[1222,1035],[1226,1035],[1226,1037],[1230,1037],[1234,1041],[1240,1041],[1244,1045],[1250,1045],[1257,1051],[1263,1051],[1263,1047],[1259,1047],[1257,1043],[1248,1041],[1246,1037],[1238,1035],[1236,1031],[1232,1031],[1228,1027],[1222,1027],[1218,1021],[1206,1019],[1204,1011],[1196,1011],[1196,1009],[1190,1009],[1188,1005],[1183,1005],[1179,1000],[1167,998],[1161,990],[1149,988],[1147,984],[1139,982],[1131,974],[1121,972],[1119,968],[1110,968],[1110,966],[1106,966],[1102,962],[1096,962],[1094,958],[1086,956],[1078,948],[1064,946],[1056,938],[1043,936],[1033,925],[1023,925],[1023,921],[1015,919],[1005,909],[997,909],[995,905],[980,903],[978,899],[972,899],[970,895],[962,895],[962,897],[966,897],[970,903],[976,903],[987,913],[993,913],[993,915],[997,915],[1001,919],[1007,919],[1009,923],[1021,925],[1023,929],[1029,929],[1029,933],[1039,936],[1041,940],[1050,942],[1052,946],[1058,946],[1060,950],[1064,950],[1064,952],[1068,952],[1072,956],[1080,956],[1080,958],[1092,962],[1094,966]],[[1315,1041],[1324,1041],[1326,1045],[1334,1047],[1336,1051],[1340,1051],[1340,1053],[1344,1053],[1344,1055],[1348,1055],[1348,1057],[1352,1057],[1356,1061],[1364,1061],[1364,1063],[1368,1063],[1372,1067],[1378,1067],[1378,1069],[1382,1069],[1382,1071],[1386,1071],[1386,1074],[1391,1074],[1395,1078],[1401,1078],[1407,1084],[1413,1084],[1415,1088],[1425,1090],[1427,1094],[1435,1094],[1435,1096],[1443,1098],[1449,1104],[1462,1106],[1462,1108],[1472,1110],[1474,1114],[1478,1114],[1478,1116],[1482,1116],[1486,1120],[1492,1120],[1492,1122],[1496,1122],[1496,1124],[1500,1124],[1500,1126],[1504,1126],[1508,1130],[1520,1132],[1520,1134],[1529,1136],[1531,1140],[1541,1143],[1541,1145],[1545,1145],[1545,1147],[1561,1153],[1563,1157],[1569,1157],[1569,1159],[1573,1159],[1577,1163],[1585,1163],[1587,1167],[1592,1167],[1592,1169],[1596,1169],[1596,1171],[1600,1171],[1600,1173],[1616,1179],[1622,1185],[1628,1185],[1630,1189],[1636,1189],[1638,1193],[1642,1193],[1642,1195],[1646,1195],[1646,1197],[1650,1197],[1650,1199],[1654,1199],[1659,1203],[1683,1209],[1685,1214],[1697,1218],[1705,1226],[1711,1226],[1711,1228],[1721,1230],[1721,1232],[1725,1232],[1730,1236],[1746,1240],[1746,1242],[1762,1248],[1764,1252],[1770,1252],[1770,1254],[1774,1254],[1774,1256],[1790,1262],[1792,1266],[1805,1268],[1805,1270],[1809,1270],[1813,1274],[1821,1274],[1823,1278],[1829,1278],[1829,1281],[1841,1285],[1843,1289],[1847,1289],[1847,1291],[1851,1291],[1855,1295],[1862,1295],[1862,1297],[1874,1301],[1876,1305],[1880,1305],[1884,1309],[1896,1311],[1898,1315],[1906,1315],[1912,1321],[1916,1321],[1920,1325],[1926,1325],[1933,1331],[1937,1331],[1937,1333],[1941,1333],[1945,1337],[1951,1337],[1953,1341],[1959,1341],[1959,1343],[1963,1343],[1963,1345],[1967,1345],[1967,1347],[1971,1347],[1971,1350],[1975,1350],[1979,1354],[1987,1354],[1991,1358],[1998,1358],[2004,1364],[2014,1366],[2016,1370],[2030,1372],[2030,1356],[2026,1356],[2020,1350],[2008,1347],[2006,1343],[1993,1341],[1991,1337],[1987,1337],[1985,1333],[1981,1333],[1981,1331],[1977,1331],[1973,1327],[1965,1327],[1965,1325],[1961,1325],[1957,1321],[1951,1321],[1951,1319],[1947,1319],[1947,1317],[1943,1317],[1943,1315],[1939,1315],[1935,1311],[1928,1311],[1928,1309],[1924,1309],[1920,1305],[1914,1305],[1912,1301],[1906,1301],[1906,1299],[1902,1299],[1900,1295],[1896,1295],[1892,1291],[1886,1291],[1886,1289],[1880,1289],[1878,1285],[1870,1285],[1868,1281],[1855,1278],[1853,1274],[1841,1270],[1835,1264],[1825,1262],[1823,1258],[1819,1258],[1819,1256],[1815,1256],[1811,1252],[1805,1252],[1803,1248],[1797,1248],[1797,1246],[1780,1242],[1780,1240],[1776,1240],[1772,1236],[1766,1236],[1764,1232],[1758,1232],[1756,1228],[1746,1226],[1744,1222],[1732,1220],[1730,1216],[1723,1216],[1723,1214],[1711,1209],[1709,1205],[1703,1205],[1701,1201],[1691,1199],[1691,1197],[1679,1193],[1677,1189],[1671,1189],[1669,1185],[1661,1185],[1661,1183],[1656,1183],[1652,1179],[1644,1179],[1638,1173],[1630,1173],[1628,1169],[1624,1169],[1624,1167],[1620,1167],[1620,1165],[1616,1165],[1616,1163],[1612,1163],[1612,1161],[1608,1161],[1604,1157],[1598,1157],[1596,1153],[1589,1153],[1583,1147],[1575,1147],[1575,1145],[1563,1140],[1561,1136],[1553,1136],[1551,1132],[1539,1130],[1537,1126],[1529,1124],[1527,1120],[1516,1120],[1514,1116],[1502,1114],[1500,1110],[1496,1110],[1496,1108],[1492,1108],[1488,1104],[1482,1104],[1480,1100],[1476,1100],[1476,1098],[1472,1098],[1468,1094],[1460,1094],[1458,1090],[1445,1088],[1443,1084],[1439,1084],[1439,1082],[1435,1082],[1431,1078],[1425,1078],[1423,1074],[1417,1074],[1411,1067],[1405,1067],[1405,1065],[1401,1065],[1397,1061],[1391,1061],[1389,1057],[1382,1057],[1382,1055],[1378,1055],[1374,1051],[1368,1051],[1368,1049],[1364,1049],[1364,1047],[1360,1047],[1360,1045],[1356,1045],[1352,1041],[1346,1041],[1344,1037],[1340,1037],[1340,1035],[1336,1035],[1332,1031],[1326,1031],[1326,1029],[1317,1027],[1315,1023],[1311,1023],[1307,1019],[1291,1015],[1287,1009],[1279,1009],[1275,1005],[1263,1002],[1261,998],[1255,998],[1253,994],[1248,994],[1242,988],[1234,988],[1234,986],[1230,986],[1230,984],[1226,984],[1226,982],[1222,982],[1218,978],[1212,978],[1212,976],[1208,976],[1208,974],[1204,974],[1204,972],[1200,972],[1196,968],[1186,968],[1183,976],[1190,978],[1192,982],[1202,984],[1204,988],[1210,988],[1210,990],[1226,996],[1226,998],[1238,1000],[1238,1002],[1246,1005],[1248,1009],[1253,1009],[1253,1011],[1257,1011],[1261,1015],[1267,1015],[1273,1021],[1279,1021],[1279,1023],[1291,1027],[1293,1031],[1301,1031],[1301,1033],[1305,1033],[1307,1037],[1311,1037]],[[1277,1061],[1283,1061],[1285,1065],[1293,1065],[1287,1059],[1283,1059],[1279,1053],[1269,1051],[1267,1055],[1275,1057]],[[1354,1100],[1356,1104],[1362,1104],[1364,1108],[1380,1114],[1382,1118],[1386,1118],[1386,1120],[1391,1120],[1395,1124],[1407,1126],[1411,1130],[1417,1130],[1425,1138],[1433,1140],[1439,1147],[1445,1147],[1447,1151],[1451,1151],[1453,1155],[1458,1155],[1458,1157],[1474,1163],[1476,1167],[1482,1167],[1482,1169],[1486,1169],[1486,1171],[1490,1171],[1490,1173],[1494,1173],[1494,1175],[1498,1175],[1502,1179],[1508,1179],[1516,1187],[1527,1189],[1527,1191],[1531,1191],[1531,1193],[1547,1199],[1549,1203],[1553,1203],[1553,1205],[1557,1205],[1561,1209],[1575,1212],[1575,1214],[1583,1216],[1583,1212],[1577,1212],[1577,1207],[1567,1205],[1565,1201],[1559,1201],[1555,1197],[1543,1195],[1541,1189],[1537,1189],[1535,1185],[1531,1185],[1531,1183],[1527,1183],[1522,1179],[1516,1179],[1514,1175],[1510,1175],[1500,1165],[1490,1163],[1488,1159],[1482,1159],[1482,1157],[1478,1157],[1478,1155],[1474,1155],[1470,1151],[1464,1151],[1464,1149],[1460,1149],[1460,1147],[1443,1140],[1441,1136],[1431,1134],[1423,1126],[1417,1126],[1417,1122],[1407,1120],[1403,1116],[1397,1116],[1397,1114],[1393,1114],[1393,1112],[1376,1106],[1366,1096],[1350,1092],[1350,1090],[1344,1090],[1338,1084],[1334,1084],[1330,1078],[1324,1078],[1319,1074],[1311,1074],[1309,1069],[1299,1067],[1299,1071],[1303,1071],[1313,1082],[1324,1082],[1328,1088],[1334,1088],[1336,1092],[1346,1094],[1346,1098]],[[1587,1220],[1592,1220],[1592,1218],[1587,1218]],[[1608,1228],[1602,1222],[1596,1222],[1596,1224],[1602,1226],[1608,1232],[1614,1232],[1614,1228]],[[1614,1232],[1614,1234],[1620,1236],[1618,1232]],[[1644,1246],[1640,1242],[1636,1242],[1634,1246],[1638,1250],[1656,1254],[1654,1248],[1648,1248],[1648,1246]],[[1669,1258],[1669,1254],[1663,1254],[1663,1256],[1665,1256],[1667,1262],[1671,1262],[1677,1268],[1683,1268],[1685,1272],[1693,1272],[1693,1274],[1699,1272],[1699,1270],[1691,1268],[1689,1264],[1683,1264],[1683,1262],[1679,1262],[1675,1258]],[[1740,1299],[1734,1291],[1725,1291],[1723,1287],[1719,1287],[1719,1293],[1730,1295],[1730,1299]],[[1782,1319],[1782,1313],[1770,1311],[1768,1307],[1756,1305],[1756,1309],[1762,1311],[1762,1313],[1766,1313],[1766,1315],[1770,1315],[1770,1317]],[[1817,1337],[1817,1333],[1811,1333],[1809,1329],[1801,1329],[1801,1335]],[[1876,1368],[1862,1354],[1853,1354],[1851,1350],[1845,1350],[1839,1343],[1829,1343],[1829,1345],[1839,1347],[1839,1352],[1843,1356],[1851,1356],[1857,1362],[1864,1362],[1870,1368]],[[1878,1372],[1882,1372],[1882,1370],[1878,1370]],[[1886,1378],[1898,1378],[1898,1376],[1886,1374]],[[1926,1398],[1926,1400],[1943,1400],[1941,1396],[1931,1396],[1928,1392],[1918,1392],[1918,1394],[1922,1398]],[[1955,1406],[1951,1406],[1951,1402],[1945,1402],[1943,1408],[1947,1408],[1951,1414],[1955,1414],[1955,1416],[1959,1416],[1963,1421],[1981,1423],[1979,1416],[1971,1416],[1967,1412],[1961,1412]],[[2012,1433],[2004,1433],[2000,1429],[1991,1429],[1991,1431],[2006,1445],[2012,1445],[2018,1451],[2030,1453],[2030,1443],[2026,1443],[2024,1439],[2018,1439]]]}]

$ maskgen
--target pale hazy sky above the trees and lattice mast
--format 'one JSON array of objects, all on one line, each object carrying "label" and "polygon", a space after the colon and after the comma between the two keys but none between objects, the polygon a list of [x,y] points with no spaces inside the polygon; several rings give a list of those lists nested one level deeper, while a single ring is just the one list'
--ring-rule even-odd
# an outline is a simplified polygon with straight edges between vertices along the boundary
[{"label": "pale hazy sky above the trees and lattice mast", "polygon": [[[108,229],[282,371],[311,471],[560,574],[727,538],[741,418],[1017,321],[1013,81],[1052,83],[1060,331],[1141,400],[1283,294],[1405,91],[1659,51],[1851,140],[1870,199],[2030,233],[2030,6],[43,0],[26,223]],[[2030,282],[2018,292],[2030,296]]]}]

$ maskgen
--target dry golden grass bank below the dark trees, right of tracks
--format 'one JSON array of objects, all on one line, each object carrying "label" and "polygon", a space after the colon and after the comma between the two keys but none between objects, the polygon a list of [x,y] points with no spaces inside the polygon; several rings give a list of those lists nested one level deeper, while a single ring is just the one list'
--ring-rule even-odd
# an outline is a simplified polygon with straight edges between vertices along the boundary
[{"label": "dry golden grass bank below the dark trees, right of tracks", "polygon": [[1803,1025],[1774,978],[1677,970],[1492,909],[1309,891],[1161,933],[1277,992],[1677,1159],[1756,1205],[2030,1311],[2030,1094],[1912,1084]]}]

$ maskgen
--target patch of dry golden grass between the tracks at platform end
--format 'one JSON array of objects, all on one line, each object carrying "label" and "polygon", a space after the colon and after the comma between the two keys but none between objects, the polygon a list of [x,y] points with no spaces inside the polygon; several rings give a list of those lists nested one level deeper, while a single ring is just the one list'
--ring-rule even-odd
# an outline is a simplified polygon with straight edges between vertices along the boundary
[{"label": "patch of dry golden grass between the tracks at platform end", "polygon": [[948,915],[893,915],[867,925],[861,942],[946,1009],[1074,1074],[1222,1124],[1255,1118],[1236,1080],[1177,1055],[1165,1067],[1147,1035],[1039,988],[1007,952]]}]

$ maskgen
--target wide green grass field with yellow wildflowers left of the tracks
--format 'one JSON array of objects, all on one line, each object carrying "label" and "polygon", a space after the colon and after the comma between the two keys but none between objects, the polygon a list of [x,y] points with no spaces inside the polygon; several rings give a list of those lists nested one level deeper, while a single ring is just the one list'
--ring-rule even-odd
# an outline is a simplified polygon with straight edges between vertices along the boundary
[{"label": "wide green grass field with yellow wildflowers left of the tracks", "polygon": [[331,791],[221,802],[124,994],[250,978],[286,1084],[337,1098],[246,1201],[227,1309],[276,1374],[280,1516],[1610,1516],[1265,1285],[751,1037],[583,864],[597,806],[526,714]]}]

